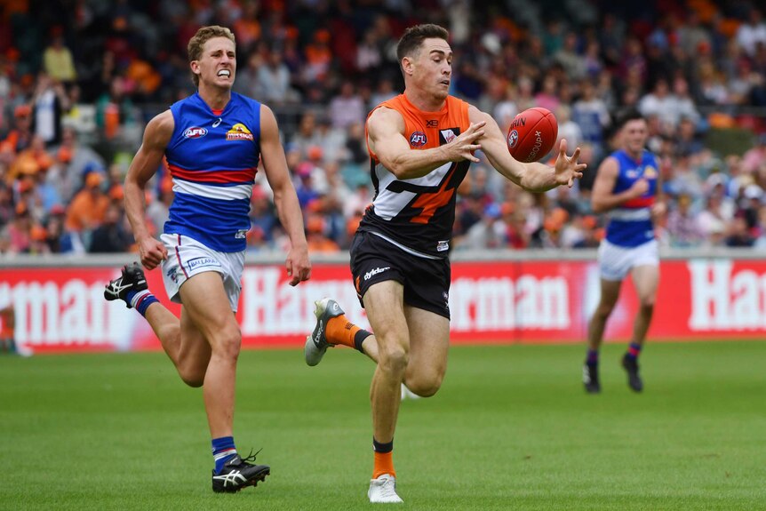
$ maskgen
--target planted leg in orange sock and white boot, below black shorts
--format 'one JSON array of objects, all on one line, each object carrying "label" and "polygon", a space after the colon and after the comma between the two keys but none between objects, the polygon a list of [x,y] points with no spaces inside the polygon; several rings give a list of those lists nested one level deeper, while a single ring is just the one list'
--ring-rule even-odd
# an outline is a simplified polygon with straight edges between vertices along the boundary
[{"label": "planted leg in orange sock and white boot, below black shorts", "polygon": [[364,306],[378,345],[378,366],[370,389],[375,467],[368,497],[371,502],[401,502],[395,491],[393,450],[410,348],[402,283],[386,280],[371,285],[364,294]]}]

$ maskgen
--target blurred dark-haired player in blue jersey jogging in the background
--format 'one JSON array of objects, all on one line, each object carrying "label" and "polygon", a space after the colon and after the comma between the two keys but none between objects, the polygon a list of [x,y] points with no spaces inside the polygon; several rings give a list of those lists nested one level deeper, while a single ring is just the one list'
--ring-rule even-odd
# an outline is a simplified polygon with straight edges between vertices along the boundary
[{"label": "blurred dark-haired player in blue jersey jogging in the background", "polygon": [[659,161],[644,148],[649,131],[646,119],[638,111],[626,112],[618,120],[617,129],[621,148],[599,166],[591,198],[593,211],[608,212],[610,219],[598,251],[601,299],[588,324],[588,351],[583,366],[583,383],[586,391],[593,394],[601,392],[598,364],[603,331],[628,274],[638,293],[639,309],[622,366],[630,388],[642,391],[638,355],[649,330],[659,283],[653,222],[664,210],[664,204],[655,202],[660,189]]}]

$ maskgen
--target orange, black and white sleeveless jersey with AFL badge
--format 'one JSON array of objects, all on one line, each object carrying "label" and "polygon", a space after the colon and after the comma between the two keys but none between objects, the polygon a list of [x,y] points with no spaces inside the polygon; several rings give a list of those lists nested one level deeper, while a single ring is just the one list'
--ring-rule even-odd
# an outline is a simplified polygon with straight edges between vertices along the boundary
[{"label": "orange, black and white sleeveless jersey with AFL badge", "polygon": [[[403,116],[403,135],[414,150],[446,144],[470,126],[468,104],[452,96],[437,112],[419,110],[404,94],[380,103],[372,112],[381,107],[393,108]],[[398,180],[370,151],[375,196],[359,230],[383,237],[420,257],[447,257],[455,220],[455,195],[469,165],[467,160],[447,162],[420,178]]]}]

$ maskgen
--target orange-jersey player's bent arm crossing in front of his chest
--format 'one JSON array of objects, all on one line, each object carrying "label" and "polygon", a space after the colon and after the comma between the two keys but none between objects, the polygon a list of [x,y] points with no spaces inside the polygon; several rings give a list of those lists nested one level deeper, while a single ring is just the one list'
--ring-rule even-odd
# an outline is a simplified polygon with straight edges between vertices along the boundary
[{"label": "orange-jersey player's bent arm crossing in front of his chest", "polygon": [[372,112],[367,120],[367,144],[396,179],[411,180],[423,177],[447,162],[478,162],[473,151],[481,148],[475,140],[483,135],[483,127],[483,123],[471,124],[466,132],[438,148],[412,149],[403,135],[402,115],[392,108],[383,107]]}]

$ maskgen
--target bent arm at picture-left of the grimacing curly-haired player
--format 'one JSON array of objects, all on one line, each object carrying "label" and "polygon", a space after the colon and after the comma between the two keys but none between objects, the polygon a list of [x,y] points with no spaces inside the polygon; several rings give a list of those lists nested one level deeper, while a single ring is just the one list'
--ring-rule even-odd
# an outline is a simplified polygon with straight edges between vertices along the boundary
[{"label": "bent arm at picture-left of the grimacing curly-haired player", "polygon": [[131,222],[133,237],[139,246],[141,264],[154,269],[168,255],[164,244],[149,234],[145,217],[147,182],[162,164],[165,148],[171,140],[175,122],[170,110],[155,116],[147,124],[141,147],[133,157],[125,176],[125,214]]}]

